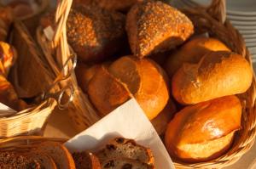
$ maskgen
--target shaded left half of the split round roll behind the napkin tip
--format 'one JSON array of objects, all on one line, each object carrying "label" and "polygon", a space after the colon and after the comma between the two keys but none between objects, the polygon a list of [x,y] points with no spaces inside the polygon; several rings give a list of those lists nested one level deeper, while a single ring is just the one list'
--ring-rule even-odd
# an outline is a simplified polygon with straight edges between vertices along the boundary
[{"label": "shaded left half of the split round roll behind the napkin tip", "polygon": [[90,80],[88,94],[101,116],[107,115],[119,105],[131,99],[128,88],[101,66]]}]

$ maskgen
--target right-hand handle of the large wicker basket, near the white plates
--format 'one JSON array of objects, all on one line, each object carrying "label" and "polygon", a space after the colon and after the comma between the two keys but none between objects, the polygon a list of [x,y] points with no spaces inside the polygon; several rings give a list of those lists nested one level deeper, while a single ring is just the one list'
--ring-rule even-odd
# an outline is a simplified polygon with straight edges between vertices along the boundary
[{"label": "right-hand handle of the large wicker basket, near the white plates", "polygon": [[215,20],[224,24],[226,20],[226,1],[225,0],[212,0],[212,3],[207,7],[207,13]]}]

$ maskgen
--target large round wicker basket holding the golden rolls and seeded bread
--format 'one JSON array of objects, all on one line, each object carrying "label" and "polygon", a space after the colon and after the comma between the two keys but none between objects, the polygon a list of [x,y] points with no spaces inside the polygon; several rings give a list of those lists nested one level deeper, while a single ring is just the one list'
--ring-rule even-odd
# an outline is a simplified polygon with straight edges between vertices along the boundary
[{"label": "large round wicker basket holding the golden rolls and seeded bread", "polygon": [[[66,21],[67,15],[71,8],[72,0],[62,0],[58,3],[55,14],[55,36],[52,41],[47,40],[44,37],[42,28],[38,28],[38,41],[46,41],[48,44],[43,45],[45,53],[56,54],[61,57],[61,61],[67,59],[70,50],[67,45],[66,37]],[[225,1],[214,0],[208,8],[189,8],[183,9],[183,13],[187,14],[195,25],[195,31],[198,33],[208,32],[210,37],[218,38],[224,42],[232,51],[237,54],[241,54],[242,57],[247,59],[248,63],[252,65],[251,56],[245,46],[245,42],[242,39],[240,33],[230,24],[229,20],[225,20]],[[41,29],[41,30],[40,30]],[[55,51],[50,52],[49,47],[52,47]],[[60,55],[61,54],[61,55]],[[59,62],[61,64],[61,62]],[[71,82],[75,84],[76,93],[74,95],[75,102],[73,103],[73,111],[71,114],[74,124],[83,129],[89,127],[99,118],[96,115],[96,111],[90,104],[86,95],[77,86],[75,75],[73,74]],[[255,76],[253,75],[252,86],[246,93],[238,95],[242,104],[242,117],[241,117],[241,130],[236,133],[234,143],[231,148],[227,150],[224,155],[206,162],[200,163],[183,163],[180,161],[174,161],[177,168],[222,168],[224,166],[230,166],[238,161],[247,150],[249,150],[254,143],[256,135],[256,116],[255,116],[255,93],[256,83]],[[84,100],[83,100],[84,99]],[[86,109],[81,109],[86,107]],[[72,110],[71,109],[71,110]]]}]

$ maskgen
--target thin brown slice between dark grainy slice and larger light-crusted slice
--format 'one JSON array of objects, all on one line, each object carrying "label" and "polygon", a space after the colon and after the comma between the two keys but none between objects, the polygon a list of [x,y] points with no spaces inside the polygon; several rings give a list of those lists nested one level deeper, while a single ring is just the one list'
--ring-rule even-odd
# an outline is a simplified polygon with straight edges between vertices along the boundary
[{"label": "thin brown slice between dark grainy slice and larger light-crusted slice", "polygon": [[29,156],[35,161],[38,161],[40,166],[44,167],[45,169],[57,169],[55,161],[49,155],[46,155],[44,152],[32,152],[29,153],[27,156]]}]

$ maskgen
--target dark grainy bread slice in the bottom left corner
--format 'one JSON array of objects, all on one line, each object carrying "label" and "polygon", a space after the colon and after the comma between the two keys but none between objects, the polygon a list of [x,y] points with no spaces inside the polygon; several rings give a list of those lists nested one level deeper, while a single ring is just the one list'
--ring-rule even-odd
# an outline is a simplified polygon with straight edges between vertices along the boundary
[{"label": "dark grainy bread slice in the bottom left corner", "polygon": [[17,155],[12,152],[0,153],[0,168],[1,169],[41,169],[38,161],[25,155]]}]

